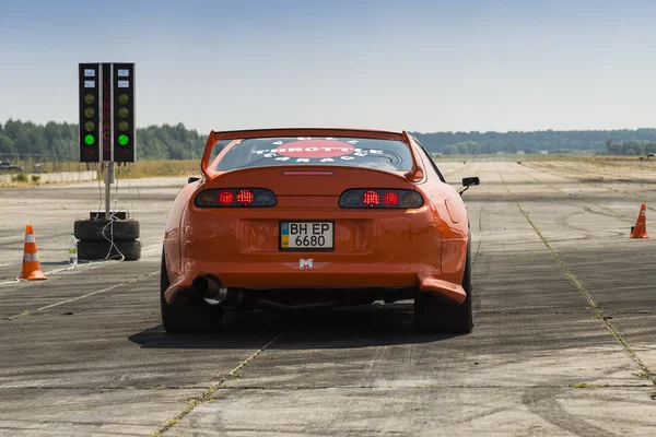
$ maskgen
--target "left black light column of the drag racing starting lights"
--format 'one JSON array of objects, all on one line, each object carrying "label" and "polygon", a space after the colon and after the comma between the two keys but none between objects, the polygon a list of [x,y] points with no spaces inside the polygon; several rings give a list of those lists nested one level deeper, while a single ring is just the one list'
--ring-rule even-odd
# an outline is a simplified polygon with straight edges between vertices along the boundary
[{"label": "left black light column of the drag racing starting lights", "polygon": [[101,66],[79,64],[80,86],[80,162],[101,161]]}]

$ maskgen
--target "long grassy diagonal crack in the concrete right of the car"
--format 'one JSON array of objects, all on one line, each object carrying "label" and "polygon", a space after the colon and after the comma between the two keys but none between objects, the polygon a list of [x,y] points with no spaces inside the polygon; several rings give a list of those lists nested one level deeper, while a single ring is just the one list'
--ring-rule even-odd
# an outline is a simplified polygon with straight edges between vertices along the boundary
[{"label": "long grassy diagonal crack in the concrete right of the car", "polygon": [[[495,164],[495,166],[496,166],[496,164]],[[513,201],[515,202],[515,204],[517,205],[517,208],[519,209],[519,211],[522,212],[522,214],[524,215],[524,217],[526,218],[528,224],[530,224],[530,226],[534,228],[534,231],[536,232],[536,234],[542,241],[542,244],[547,247],[547,249],[549,249],[551,257],[560,264],[561,269],[563,269],[563,272],[565,273],[567,279],[578,288],[578,291],[583,294],[583,296],[589,303],[590,309],[595,314],[595,318],[604,321],[604,324],[606,324],[606,327],[610,330],[610,332],[614,335],[614,338],[620,342],[620,344],[622,345],[624,351],[626,351],[629,356],[631,356],[631,358],[633,358],[633,361],[637,364],[637,366],[649,377],[652,382],[654,385],[656,385],[656,378],[653,377],[653,374],[649,370],[649,368],[647,367],[647,365],[637,356],[635,351],[633,351],[633,349],[629,345],[629,343],[624,340],[624,338],[622,338],[622,335],[618,332],[618,330],[612,327],[612,324],[609,322],[610,317],[606,316],[604,314],[604,310],[595,303],[593,296],[588,293],[588,291],[578,281],[576,275],[570,270],[567,264],[565,264],[565,262],[563,261],[561,256],[551,247],[551,245],[549,245],[549,241],[547,241],[544,236],[540,233],[538,227],[530,220],[528,213],[522,208],[522,205],[517,201],[517,198],[515,197],[515,194],[513,194],[513,192],[508,188],[505,179],[501,175],[501,172],[499,172],[499,168],[496,168],[496,173],[499,174],[499,177],[500,177],[505,190],[507,191],[508,196],[513,199]]]}]

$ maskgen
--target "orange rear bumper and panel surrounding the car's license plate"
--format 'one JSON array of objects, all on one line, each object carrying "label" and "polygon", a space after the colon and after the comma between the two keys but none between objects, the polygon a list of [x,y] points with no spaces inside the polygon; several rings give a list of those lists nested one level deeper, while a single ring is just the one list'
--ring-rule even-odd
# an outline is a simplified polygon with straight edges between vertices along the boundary
[{"label": "orange rear bumper and panel surrounding the car's license plate", "polygon": [[[283,199],[284,200],[284,199]],[[286,200],[291,202],[291,200]],[[308,199],[297,202],[308,202]],[[336,199],[308,206],[283,205],[261,211],[191,209],[186,225],[165,236],[175,304],[198,276],[218,277],[229,288],[408,288],[417,287],[460,304],[467,234],[453,233],[422,206],[411,211],[340,210]],[[254,209],[255,210],[255,209]],[[280,248],[281,221],[332,221],[330,251]]]}]

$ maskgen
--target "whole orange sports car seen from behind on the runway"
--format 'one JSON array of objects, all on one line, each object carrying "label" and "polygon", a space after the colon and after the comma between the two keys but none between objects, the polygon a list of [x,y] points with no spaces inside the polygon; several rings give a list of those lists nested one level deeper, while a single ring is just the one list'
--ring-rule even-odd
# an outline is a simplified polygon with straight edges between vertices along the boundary
[{"label": "whole orange sports car seen from behind on the runway", "polygon": [[421,331],[473,328],[461,191],[408,132],[212,131],[200,168],[166,220],[167,332],[219,331],[226,310],[401,299]]}]

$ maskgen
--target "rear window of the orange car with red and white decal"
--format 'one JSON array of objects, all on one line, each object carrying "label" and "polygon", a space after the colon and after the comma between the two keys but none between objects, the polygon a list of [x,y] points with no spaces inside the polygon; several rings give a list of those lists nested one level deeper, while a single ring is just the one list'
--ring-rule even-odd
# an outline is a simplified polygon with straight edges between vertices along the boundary
[{"label": "rear window of the orange car with red and white decal", "polygon": [[235,144],[218,170],[276,165],[343,165],[409,172],[412,155],[401,141],[362,138],[258,138]]}]

